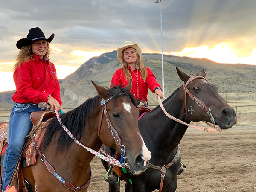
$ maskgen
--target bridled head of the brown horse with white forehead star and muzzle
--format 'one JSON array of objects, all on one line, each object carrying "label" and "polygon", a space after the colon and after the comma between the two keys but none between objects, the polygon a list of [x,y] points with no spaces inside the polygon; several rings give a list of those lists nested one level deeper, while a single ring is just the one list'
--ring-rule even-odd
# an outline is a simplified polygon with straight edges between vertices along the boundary
[{"label": "bridled head of the brown horse with white forehead star and muzzle", "polygon": [[131,81],[125,88],[114,86],[107,90],[95,83],[93,86],[100,96],[102,108],[102,115],[99,117],[99,138],[104,145],[124,154],[131,172],[139,175],[147,169],[151,156],[138,127],[139,111],[130,93]]}]

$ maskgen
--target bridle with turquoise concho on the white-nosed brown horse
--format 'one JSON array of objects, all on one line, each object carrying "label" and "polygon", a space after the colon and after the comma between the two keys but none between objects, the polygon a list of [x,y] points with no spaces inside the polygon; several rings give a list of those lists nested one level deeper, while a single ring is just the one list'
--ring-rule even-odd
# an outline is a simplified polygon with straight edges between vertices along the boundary
[{"label": "bridle with turquoise concho on the white-nosed brown horse", "polygon": [[[121,93],[119,93],[119,96],[120,95],[126,95],[126,94],[121,92]],[[101,102],[100,102],[100,105],[103,107],[103,109],[102,109],[102,113],[101,113],[100,121],[99,121],[98,136],[100,134],[101,125],[102,125],[102,118],[103,118],[103,113],[104,113],[105,119],[106,119],[107,124],[108,124],[108,128],[111,130],[112,137],[114,138],[116,144],[121,148],[121,160],[120,160],[120,163],[125,163],[125,159],[126,159],[125,146],[122,145],[121,139],[120,139],[120,137],[118,135],[118,132],[116,131],[115,128],[113,128],[113,125],[111,124],[110,119],[109,119],[108,111],[106,109],[106,103],[110,102],[111,99],[113,99],[113,97],[110,97],[110,98],[108,98],[106,100],[102,99]]]}]

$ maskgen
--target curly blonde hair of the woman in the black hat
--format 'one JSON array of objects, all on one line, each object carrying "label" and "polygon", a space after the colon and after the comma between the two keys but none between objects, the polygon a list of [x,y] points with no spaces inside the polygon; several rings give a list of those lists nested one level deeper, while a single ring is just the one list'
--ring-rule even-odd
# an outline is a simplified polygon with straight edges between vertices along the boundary
[{"label": "curly blonde hair of the woman in the black hat", "polygon": [[[48,49],[44,56],[50,61],[49,56],[50,56],[51,48],[49,46],[49,42],[48,41],[46,41],[46,42],[47,42]],[[22,62],[28,62],[28,61],[34,61],[34,52],[32,50],[31,45],[23,46],[20,49],[20,52],[17,55],[15,64],[13,66],[13,70],[15,70],[17,67],[19,67]]]}]

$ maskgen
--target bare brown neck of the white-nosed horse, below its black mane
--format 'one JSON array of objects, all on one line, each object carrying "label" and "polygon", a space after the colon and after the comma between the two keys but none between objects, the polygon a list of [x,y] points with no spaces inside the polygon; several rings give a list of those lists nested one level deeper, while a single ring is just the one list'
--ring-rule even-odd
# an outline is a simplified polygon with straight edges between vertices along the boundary
[{"label": "bare brown neck of the white-nosed horse, below its black mane", "polygon": [[[102,142],[98,137],[99,115],[95,114],[93,115],[93,118],[89,119],[90,128],[88,124],[85,123],[84,132],[79,139],[79,142],[82,145],[93,149],[94,151],[99,151],[102,145]],[[95,157],[95,155],[87,151],[87,149],[83,148],[78,143],[73,142],[70,148],[68,148],[67,153],[66,151],[59,151],[55,153],[52,157],[53,160],[57,159],[60,161],[59,164],[62,170],[66,170],[61,176],[63,176],[64,178],[70,178],[71,180],[69,181],[71,183],[76,184],[77,186],[81,186],[86,180],[88,180],[88,174],[86,173],[90,171],[90,162],[92,161],[93,157]],[[84,175],[87,176],[84,177]]]}]

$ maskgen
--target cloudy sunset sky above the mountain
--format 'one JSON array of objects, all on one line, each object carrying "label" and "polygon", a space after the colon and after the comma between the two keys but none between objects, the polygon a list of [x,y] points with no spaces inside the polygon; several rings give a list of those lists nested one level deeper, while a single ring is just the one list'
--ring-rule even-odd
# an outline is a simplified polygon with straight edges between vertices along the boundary
[{"label": "cloudy sunset sky above the mountain", "polygon": [[255,0],[1,0],[0,91],[15,89],[16,42],[30,28],[54,33],[51,61],[58,78],[93,56],[137,41],[144,53],[163,52],[223,63],[256,64]]}]

